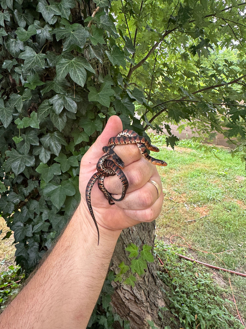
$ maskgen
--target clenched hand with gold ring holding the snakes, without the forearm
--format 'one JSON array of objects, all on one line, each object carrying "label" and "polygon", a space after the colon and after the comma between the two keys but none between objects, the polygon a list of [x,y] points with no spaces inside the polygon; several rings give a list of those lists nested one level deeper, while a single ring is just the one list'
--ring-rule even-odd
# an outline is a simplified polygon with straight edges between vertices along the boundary
[{"label": "clenched hand with gold ring holding the snakes, without the forearm", "polygon": [[[81,205],[91,223],[93,223],[93,220],[85,199],[86,185],[96,172],[96,164],[99,158],[104,154],[102,147],[108,145],[108,140],[120,131],[122,131],[120,118],[116,115],[111,116],[102,134],[81,160]],[[128,179],[129,188],[122,201],[109,205],[108,200],[99,190],[97,184],[94,184],[91,202],[99,231],[100,227],[109,230],[122,230],[143,221],[150,222],[159,215],[163,203],[161,180],[155,165],[143,158],[135,144],[116,145],[114,151],[125,163],[123,171]],[[157,189],[148,182],[149,180],[153,180],[159,185],[161,193],[158,198]],[[106,177],[104,184],[105,188],[114,194],[114,198],[117,199],[121,196],[122,183],[117,175]]]}]

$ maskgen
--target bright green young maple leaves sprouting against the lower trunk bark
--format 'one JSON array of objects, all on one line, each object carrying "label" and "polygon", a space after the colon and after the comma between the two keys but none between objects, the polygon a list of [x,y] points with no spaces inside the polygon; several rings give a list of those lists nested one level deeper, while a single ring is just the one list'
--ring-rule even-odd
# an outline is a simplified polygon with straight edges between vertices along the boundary
[{"label": "bright green young maple leaves sprouting against the lower trunk bark", "polygon": [[130,265],[125,265],[124,262],[119,264],[119,272],[116,274],[114,281],[123,284],[135,286],[136,276],[145,273],[147,269],[147,262],[154,262],[154,256],[151,253],[152,247],[144,244],[142,250],[139,252],[138,246],[131,243],[126,247],[126,250],[130,252],[128,258],[130,259]]}]

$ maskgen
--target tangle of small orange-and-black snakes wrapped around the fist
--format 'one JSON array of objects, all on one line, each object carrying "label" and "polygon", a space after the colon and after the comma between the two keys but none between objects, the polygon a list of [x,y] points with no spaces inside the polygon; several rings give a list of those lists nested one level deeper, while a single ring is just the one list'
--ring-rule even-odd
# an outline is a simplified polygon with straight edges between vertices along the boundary
[{"label": "tangle of small orange-and-black snakes wrapped around the fist", "polygon": [[[124,174],[122,168],[124,168],[124,162],[118,157],[118,155],[114,152],[113,148],[115,145],[125,145],[125,144],[137,144],[138,149],[142,156],[155,165],[166,166],[167,163],[163,160],[152,158],[148,153],[147,149],[154,152],[159,152],[158,147],[151,145],[145,137],[139,136],[133,130],[125,129],[121,131],[116,137],[111,137],[108,142],[108,146],[104,146],[102,148],[103,152],[106,154],[103,155],[97,162],[96,170],[89,180],[86,186],[86,202],[89,208],[92,219],[95,223],[97,234],[98,234],[98,244],[99,244],[99,229],[97,226],[97,222],[92,210],[91,205],[91,191],[95,182],[98,180],[98,187],[103,192],[104,196],[108,199],[109,204],[113,205],[113,201],[121,201],[125,195],[128,188],[128,180],[126,175]],[[112,157],[112,160],[109,158]],[[107,176],[117,175],[122,183],[122,194],[121,197],[115,199],[111,193],[109,193],[104,187],[104,178]]]}]

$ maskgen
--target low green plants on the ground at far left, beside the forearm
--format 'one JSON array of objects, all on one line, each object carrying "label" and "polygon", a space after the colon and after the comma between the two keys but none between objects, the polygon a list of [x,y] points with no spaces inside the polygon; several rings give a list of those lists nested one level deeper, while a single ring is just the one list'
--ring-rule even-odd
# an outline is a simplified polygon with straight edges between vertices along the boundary
[{"label": "low green plants on the ground at far left, beside the forearm", "polygon": [[[0,263],[2,266],[4,260]],[[24,274],[20,274],[20,266],[9,266],[7,271],[0,273],[0,313],[5,308],[9,299],[14,298],[18,293],[20,283]],[[18,282],[17,282],[18,281]]]}]

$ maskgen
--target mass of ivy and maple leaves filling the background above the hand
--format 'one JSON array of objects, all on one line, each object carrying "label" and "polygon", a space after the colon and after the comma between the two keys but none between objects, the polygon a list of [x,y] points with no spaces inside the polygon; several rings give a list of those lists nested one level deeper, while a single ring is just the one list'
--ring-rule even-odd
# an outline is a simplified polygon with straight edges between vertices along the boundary
[{"label": "mass of ivy and maple leaves filling the background above the hand", "polygon": [[245,139],[246,3],[0,5],[0,209],[24,269],[73,213],[79,161],[110,115],[141,135],[164,122],[171,146],[184,120]]}]

